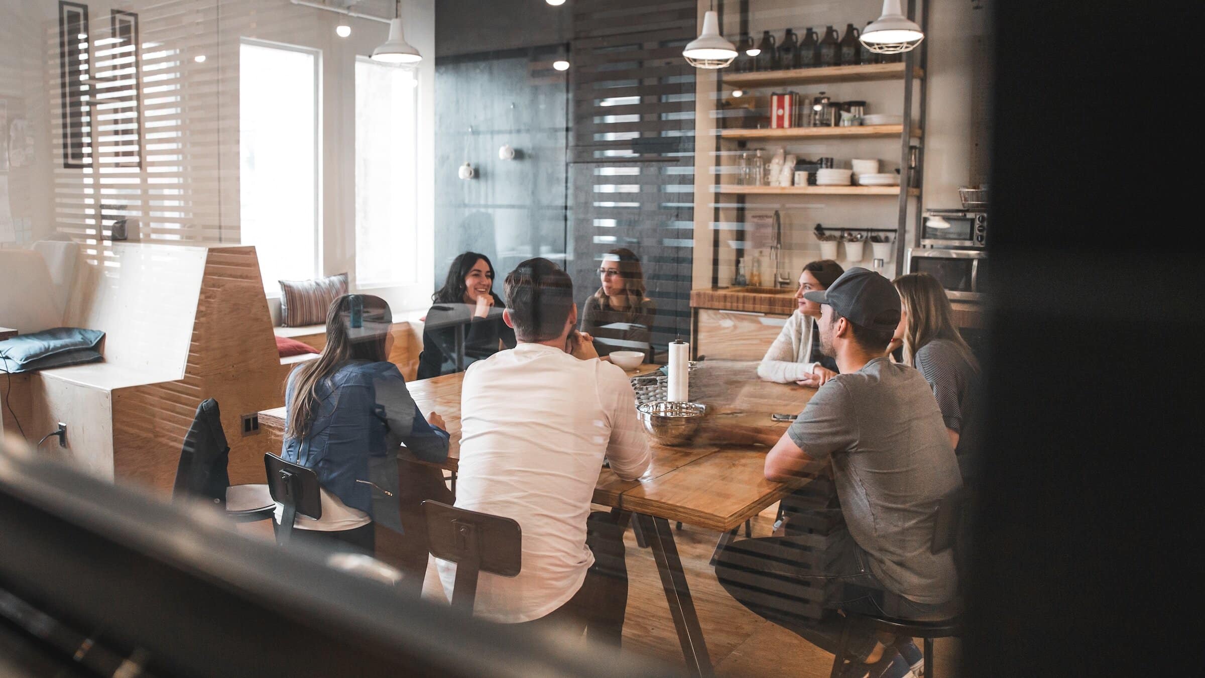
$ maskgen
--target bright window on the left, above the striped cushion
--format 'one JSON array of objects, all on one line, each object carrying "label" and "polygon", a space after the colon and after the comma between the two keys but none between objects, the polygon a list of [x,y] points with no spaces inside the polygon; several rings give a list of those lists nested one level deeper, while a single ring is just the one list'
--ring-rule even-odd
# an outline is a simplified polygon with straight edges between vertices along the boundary
[{"label": "bright window on the left, above the striped cushion", "polygon": [[245,40],[239,62],[242,241],[264,290],[318,274],[321,53]]}]

